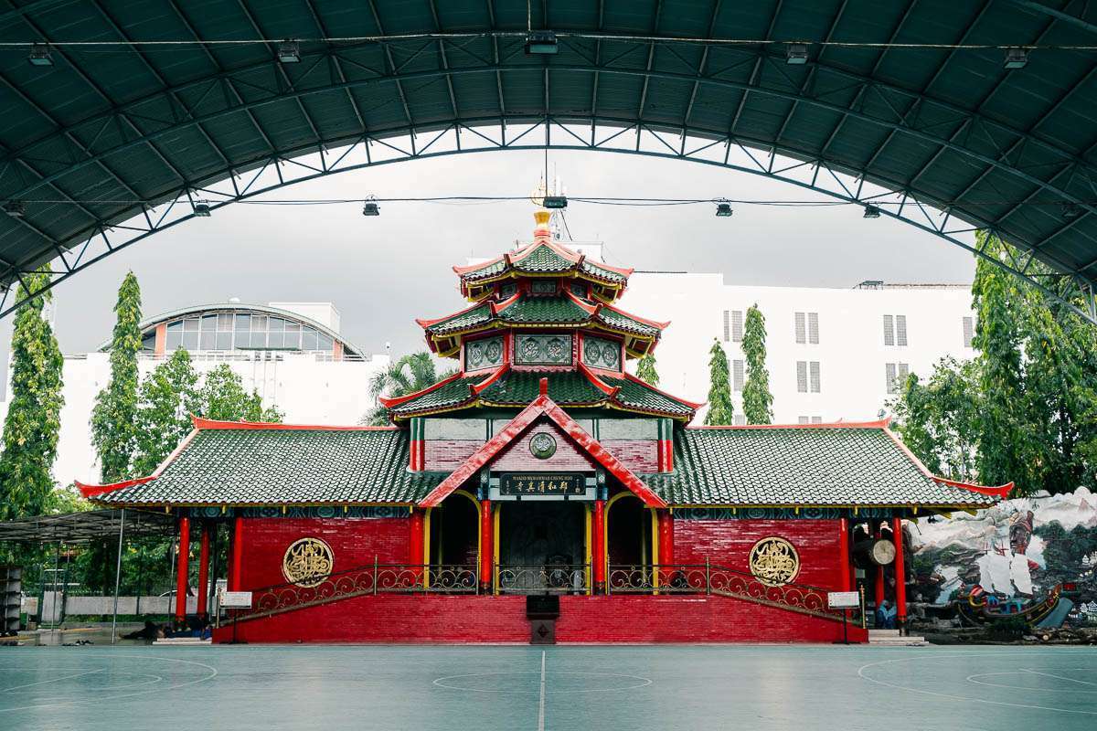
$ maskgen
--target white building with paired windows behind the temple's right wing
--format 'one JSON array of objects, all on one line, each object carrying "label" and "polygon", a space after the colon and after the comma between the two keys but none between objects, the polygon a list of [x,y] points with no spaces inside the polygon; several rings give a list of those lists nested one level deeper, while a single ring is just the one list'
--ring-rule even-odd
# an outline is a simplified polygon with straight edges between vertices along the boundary
[{"label": "white building with paired windows behind the temple's right wing", "polygon": [[721,341],[736,423],[744,423],[742,340],[751,305],[766,318],[774,423],[878,419],[907,373],[925,378],[945,356],[973,355],[969,285],[758,287],[725,284],[722,274],[636,272],[621,298],[629,311],[670,320],[656,350],[659,385],[683,398],[706,400],[709,350]]}]

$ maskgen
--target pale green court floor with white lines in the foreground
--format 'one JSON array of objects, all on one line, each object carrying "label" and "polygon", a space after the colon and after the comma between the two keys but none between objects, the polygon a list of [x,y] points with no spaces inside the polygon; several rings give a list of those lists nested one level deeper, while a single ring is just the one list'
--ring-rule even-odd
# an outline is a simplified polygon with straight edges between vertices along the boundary
[{"label": "pale green court floor with white lines in the foreground", "polygon": [[9,731],[736,728],[1095,729],[1097,649],[0,649]]}]

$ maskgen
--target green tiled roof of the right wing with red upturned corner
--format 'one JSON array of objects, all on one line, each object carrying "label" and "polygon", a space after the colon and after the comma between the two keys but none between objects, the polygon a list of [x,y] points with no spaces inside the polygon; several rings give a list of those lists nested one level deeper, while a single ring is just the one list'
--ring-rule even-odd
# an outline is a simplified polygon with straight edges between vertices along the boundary
[{"label": "green tiled roof of the right wing with red upturned corner", "polygon": [[941,484],[882,429],[685,429],[675,470],[642,479],[671,505],[987,505]]}]

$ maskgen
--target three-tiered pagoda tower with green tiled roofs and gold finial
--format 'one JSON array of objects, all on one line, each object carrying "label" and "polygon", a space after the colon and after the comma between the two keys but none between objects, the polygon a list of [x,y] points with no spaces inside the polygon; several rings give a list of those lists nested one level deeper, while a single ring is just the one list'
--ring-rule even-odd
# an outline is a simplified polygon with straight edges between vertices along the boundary
[{"label": "three-tiered pagoda tower with green tiled roofs and gold finial", "polygon": [[553,240],[550,213],[534,214],[533,241],[488,262],[454,266],[470,307],[416,322],[431,352],[456,358],[457,373],[422,391],[382,398],[392,420],[513,412],[547,379],[547,395],[579,418],[612,412],[688,423],[701,406],[676,398],[625,370],[653,353],[669,322],[614,305],[631,269],[587,260]]}]

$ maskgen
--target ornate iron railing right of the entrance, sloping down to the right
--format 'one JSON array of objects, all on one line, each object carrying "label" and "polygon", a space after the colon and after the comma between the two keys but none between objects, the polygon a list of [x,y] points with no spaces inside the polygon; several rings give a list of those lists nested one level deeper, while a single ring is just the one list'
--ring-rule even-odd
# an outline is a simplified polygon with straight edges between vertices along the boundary
[{"label": "ornate iron railing right of the entrance, sloping down to the right", "polygon": [[608,594],[716,594],[840,620],[841,609],[827,607],[828,591],[810,584],[771,585],[747,571],[709,563],[610,566],[606,582]]}]

